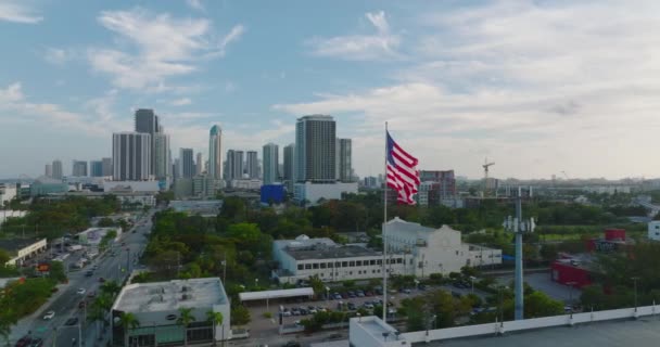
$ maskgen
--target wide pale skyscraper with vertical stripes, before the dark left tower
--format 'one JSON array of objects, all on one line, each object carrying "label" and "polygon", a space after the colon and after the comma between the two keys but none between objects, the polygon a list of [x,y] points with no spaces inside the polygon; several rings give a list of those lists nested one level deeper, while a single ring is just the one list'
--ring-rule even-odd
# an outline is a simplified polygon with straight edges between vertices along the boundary
[{"label": "wide pale skyscraper with vertical stripes, before the dark left tower", "polygon": [[113,179],[143,181],[151,178],[151,136],[141,132],[112,134]]}]

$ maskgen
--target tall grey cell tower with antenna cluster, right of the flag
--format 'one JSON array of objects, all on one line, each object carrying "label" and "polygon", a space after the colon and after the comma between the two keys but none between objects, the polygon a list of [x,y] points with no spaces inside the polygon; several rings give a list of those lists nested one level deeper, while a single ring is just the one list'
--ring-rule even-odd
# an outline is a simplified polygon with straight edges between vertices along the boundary
[{"label": "tall grey cell tower with antenna cluster, right of the flag", "polygon": [[518,188],[516,197],[516,218],[509,216],[504,221],[504,228],[516,235],[516,320],[524,319],[524,288],[522,282],[522,234],[533,232],[536,224],[534,218],[522,220],[522,190]]}]

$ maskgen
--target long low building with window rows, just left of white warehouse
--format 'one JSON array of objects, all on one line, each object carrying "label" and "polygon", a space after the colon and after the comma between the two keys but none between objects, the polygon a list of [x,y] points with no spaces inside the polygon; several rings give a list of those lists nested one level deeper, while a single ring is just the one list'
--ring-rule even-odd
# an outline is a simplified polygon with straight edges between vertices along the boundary
[{"label": "long low building with window rows, just left of white warehouse", "polygon": [[[277,240],[272,243],[272,256],[279,268],[272,277],[280,283],[295,283],[318,275],[321,281],[377,279],[383,277],[383,255],[357,245],[338,245],[330,239],[309,239],[300,235],[295,240]],[[389,273],[407,274],[405,254],[388,255]]]}]

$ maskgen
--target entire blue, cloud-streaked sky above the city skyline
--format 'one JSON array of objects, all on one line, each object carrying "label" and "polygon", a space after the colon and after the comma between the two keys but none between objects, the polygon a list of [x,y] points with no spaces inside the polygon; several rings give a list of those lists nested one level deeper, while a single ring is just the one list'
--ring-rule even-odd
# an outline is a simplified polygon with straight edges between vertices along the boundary
[{"label": "entire blue, cloud-streaked sky above the city skyline", "polygon": [[0,0],[0,178],[111,156],[136,108],[173,155],[214,124],[281,151],[329,114],[363,177],[385,121],[420,169],[660,176],[656,0]]}]

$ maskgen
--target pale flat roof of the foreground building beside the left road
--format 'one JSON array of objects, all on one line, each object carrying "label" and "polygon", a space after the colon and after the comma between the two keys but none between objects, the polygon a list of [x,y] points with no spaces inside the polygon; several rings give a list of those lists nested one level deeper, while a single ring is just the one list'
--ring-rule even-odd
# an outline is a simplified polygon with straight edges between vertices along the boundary
[{"label": "pale flat roof of the foreground building beside the left road", "polygon": [[229,305],[229,300],[220,279],[206,278],[129,284],[119,293],[113,309],[126,312],[157,312],[223,304]]}]

